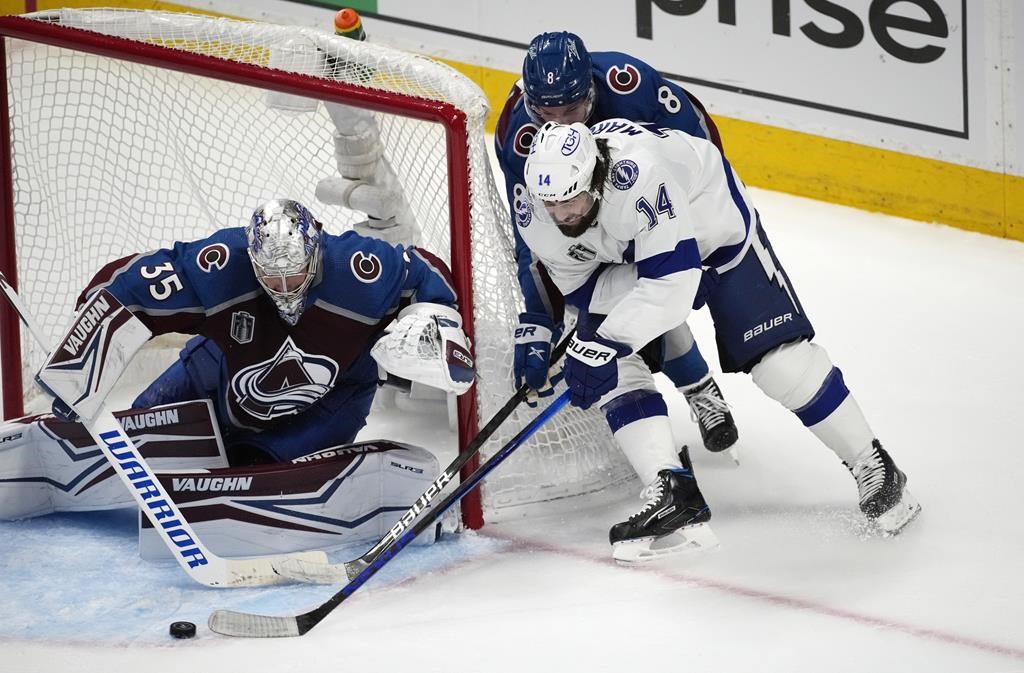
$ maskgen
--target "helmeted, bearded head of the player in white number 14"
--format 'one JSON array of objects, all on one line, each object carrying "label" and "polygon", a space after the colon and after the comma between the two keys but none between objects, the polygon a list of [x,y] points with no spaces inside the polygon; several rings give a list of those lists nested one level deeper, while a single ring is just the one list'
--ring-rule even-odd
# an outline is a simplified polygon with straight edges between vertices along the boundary
[{"label": "helmeted, bearded head of the player in white number 14", "polygon": [[565,236],[581,236],[597,219],[601,192],[594,185],[594,172],[599,154],[594,135],[580,123],[548,122],[529,149],[526,188]]}]

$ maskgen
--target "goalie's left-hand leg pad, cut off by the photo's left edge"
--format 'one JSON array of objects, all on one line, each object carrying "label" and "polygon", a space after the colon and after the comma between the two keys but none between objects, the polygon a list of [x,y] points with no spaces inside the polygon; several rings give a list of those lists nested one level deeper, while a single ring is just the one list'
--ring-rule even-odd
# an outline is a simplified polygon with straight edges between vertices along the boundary
[{"label": "goalie's left-hand leg pad, cut off by the photo's left edge", "polygon": [[[207,399],[115,412],[155,470],[226,467]],[[81,423],[49,414],[0,423],[0,519],[135,507]]]}]

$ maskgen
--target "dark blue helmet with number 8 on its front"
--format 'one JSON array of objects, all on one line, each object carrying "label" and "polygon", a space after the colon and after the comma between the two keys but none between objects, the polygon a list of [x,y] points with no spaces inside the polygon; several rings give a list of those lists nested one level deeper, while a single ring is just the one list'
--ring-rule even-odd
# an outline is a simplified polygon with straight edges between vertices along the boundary
[{"label": "dark blue helmet with number 8 on its front", "polygon": [[586,97],[582,121],[594,110],[590,52],[572,33],[542,33],[534,38],[522,61],[522,85],[526,112],[538,124],[546,121],[542,108],[568,106]]}]

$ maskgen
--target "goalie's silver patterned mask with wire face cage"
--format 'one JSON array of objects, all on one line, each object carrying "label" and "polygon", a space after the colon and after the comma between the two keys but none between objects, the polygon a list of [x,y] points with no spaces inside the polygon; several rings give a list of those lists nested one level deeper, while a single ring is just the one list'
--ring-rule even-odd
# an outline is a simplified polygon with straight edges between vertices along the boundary
[{"label": "goalie's silver patterned mask with wire face cage", "polygon": [[322,228],[305,206],[290,199],[263,204],[246,227],[256,279],[292,325],[319,270]]}]

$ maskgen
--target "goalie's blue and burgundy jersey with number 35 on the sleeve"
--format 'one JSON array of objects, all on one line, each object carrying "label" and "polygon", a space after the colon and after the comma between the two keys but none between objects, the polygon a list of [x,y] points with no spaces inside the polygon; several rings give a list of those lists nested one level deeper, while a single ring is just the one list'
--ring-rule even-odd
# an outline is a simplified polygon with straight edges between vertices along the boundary
[{"label": "goalie's blue and burgundy jersey with number 35 on the sleeve", "polygon": [[325,234],[323,264],[298,323],[289,325],[256,280],[245,229],[125,257],[104,266],[82,299],[105,288],[154,335],[199,334],[224,353],[220,394],[240,427],[265,429],[327,394],[399,308],[456,305],[447,266],[348,232]]}]

